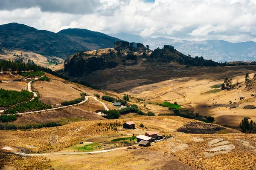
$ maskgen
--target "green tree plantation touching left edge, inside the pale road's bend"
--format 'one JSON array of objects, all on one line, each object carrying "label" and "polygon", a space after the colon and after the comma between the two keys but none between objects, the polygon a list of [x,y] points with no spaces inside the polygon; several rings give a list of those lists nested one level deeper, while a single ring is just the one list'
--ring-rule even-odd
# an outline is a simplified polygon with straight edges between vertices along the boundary
[{"label": "green tree plantation touching left edge, inside the pale road's bend", "polygon": [[33,93],[27,90],[21,92],[15,90],[0,89],[0,107],[10,107],[33,97]]}]

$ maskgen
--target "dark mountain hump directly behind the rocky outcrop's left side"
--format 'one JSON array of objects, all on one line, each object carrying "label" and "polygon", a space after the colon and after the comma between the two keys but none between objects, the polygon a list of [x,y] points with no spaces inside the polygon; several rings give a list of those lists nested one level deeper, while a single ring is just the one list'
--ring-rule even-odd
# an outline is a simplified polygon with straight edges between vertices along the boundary
[{"label": "dark mountain hump directly behind the rocky outcrop's left side", "polygon": [[63,35],[90,50],[111,48],[114,47],[114,42],[120,41],[118,38],[87,29],[64,29],[57,34]]}]

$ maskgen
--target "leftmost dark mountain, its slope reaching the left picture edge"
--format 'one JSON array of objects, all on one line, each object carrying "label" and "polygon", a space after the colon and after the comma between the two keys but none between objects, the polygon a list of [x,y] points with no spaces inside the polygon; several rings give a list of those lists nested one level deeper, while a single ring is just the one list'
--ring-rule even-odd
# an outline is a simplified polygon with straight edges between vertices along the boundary
[{"label": "leftmost dark mountain, its slope reaching the left picture edge", "polygon": [[0,43],[3,47],[26,49],[60,58],[67,58],[77,51],[88,50],[67,37],[18,23],[0,25]]}]

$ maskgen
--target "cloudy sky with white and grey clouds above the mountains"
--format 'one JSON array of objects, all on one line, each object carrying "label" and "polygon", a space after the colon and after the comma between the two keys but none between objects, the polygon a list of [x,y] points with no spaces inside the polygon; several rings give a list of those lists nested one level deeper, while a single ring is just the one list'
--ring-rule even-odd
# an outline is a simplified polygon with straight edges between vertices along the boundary
[{"label": "cloudy sky with white and grey clouds above the mountains", "polygon": [[256,0],[0,0],[0,24],[256,42]]}]

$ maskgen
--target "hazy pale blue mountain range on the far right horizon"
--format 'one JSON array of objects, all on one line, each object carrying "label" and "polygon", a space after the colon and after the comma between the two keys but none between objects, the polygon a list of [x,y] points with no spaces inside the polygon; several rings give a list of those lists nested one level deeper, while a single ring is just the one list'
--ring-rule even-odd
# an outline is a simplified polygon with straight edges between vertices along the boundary
[{"label": "hazy pale blue mountain range on the far right horizon", "polygon": [[165,37],[150,38],[125,33],[110,35],[130,42],[148,44],[151,50],[163,48],[164,45],[169,44],[183,54],[189,54],[192,57],[203,56],[205,59],[211,58],[218,62],[256,61],[256,43],[253,41],[230,43],[224,40],[187,41]]}]

